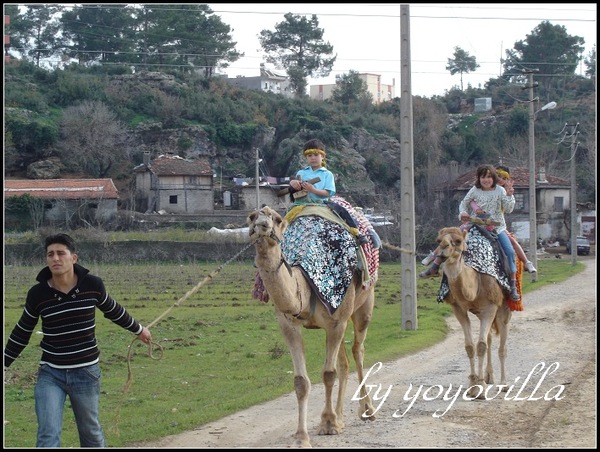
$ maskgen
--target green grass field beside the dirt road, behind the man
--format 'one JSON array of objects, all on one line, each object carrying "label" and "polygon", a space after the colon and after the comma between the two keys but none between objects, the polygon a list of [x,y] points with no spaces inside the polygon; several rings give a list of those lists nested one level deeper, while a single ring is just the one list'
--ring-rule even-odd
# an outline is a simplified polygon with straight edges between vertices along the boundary
[{"label": "green grass field beside the dirt road, behind the man", "polygon": [[[538,282],[530,283],[528,275],[524,275],[525,294],[563,281],[583,269],[583,264],[573,267],[568,260],[538,263]],[[88,265],[139,321],[145,325],[155,323],[151,328],[153,339],[162,347],[162,355],[156,350],[157,359],[152,359],[141,342],[134,342],[130,362],[132,381],[125,391],[128,347],[134,337],[97,316],[103,372],[100,416],[109,447],[132,446],[191,430],[293,391],[292,363],[275,321],[273,305],[252,298],[256,269],[250,262],[226,265],[176,306],[218,266],[215,263]],[[39,270],[39,267],[5,268],[5,338],[20,317],[25,294]],[[415,353],[443,340],[447,333],[445,318],[451,315],[451,310],[436,301],[437,278],[418,280],[418,328],[401,329],[400,279],[399,263],[381,265],[375,312],[365,343],[366,367]],[[524,304],[527,309],[526,295]],[[317,384],[324,362],[324,332],[305,330],[304,338],[307,368],[311,381]],[[351,341],[349,328],[346,344]],[[34,335],[23,354],[5,372],[5,380],[10,380],[4,393],[5,447],[35,446],[33,385],[39,357],[39,336]],[[62,446],[79,447],[68,401]]]}]

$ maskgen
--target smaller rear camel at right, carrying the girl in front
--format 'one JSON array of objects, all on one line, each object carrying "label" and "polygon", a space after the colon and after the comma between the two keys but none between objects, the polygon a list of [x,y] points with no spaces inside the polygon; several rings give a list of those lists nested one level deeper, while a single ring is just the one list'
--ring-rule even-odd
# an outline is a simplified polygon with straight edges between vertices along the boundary
[{"label": "smaller rear camel at right, carrying the girl in front", "polygon": [[[506,294],[500,283],[490,275],[480,273],[465,265],[463,252],[467,249],[467,231],[459,228],[443,228],[437,242],[444,260],[443,272],[448,279],[449,292],[445,301],[452,306],[454,315],[462,326],[465,335],[465,350],[469,357],[469,396],[482,397],[486,383],[494,384],[492,369],[492,331],[500,336],[498,357],[500,359],[500,384],[506,384],[505,360],[506,339],[511,310],[506,303]],[[469,312],[479,318],[479,340],[477,348],[472,338]],[[477,350],[477,371],[475,351]],[[484,374],[484,360],[487,360]],[[506,387],[504,388],[506,389]]]}]

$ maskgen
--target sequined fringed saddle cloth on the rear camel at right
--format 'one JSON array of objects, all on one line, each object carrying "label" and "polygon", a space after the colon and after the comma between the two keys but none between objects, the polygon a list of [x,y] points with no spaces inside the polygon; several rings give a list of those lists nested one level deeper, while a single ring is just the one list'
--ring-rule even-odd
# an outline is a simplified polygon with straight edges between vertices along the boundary
[{"label": "sequined fringed saddle cloth on the rear camel at right", "polygon": [[[522,311],[523,303],[521,301],[513,301],[509,295],[510,281],[505,265],[505,256],[502,252],[500,243],[490,242],[486,231],[482,231],[480,226],[474,225],[467,235],[467,250],[463,253],[465,265],[477,270],[479,273],[493,276],[500,285],[505,289],[506,302],[511,311]],[[522,265],[517,265],[517,290],[521,295],[521,274]],[[443,303],[448,295],[450,288],[448,286],[448,278],[442,275],[442,282],[438,292],[437,301]]]}]

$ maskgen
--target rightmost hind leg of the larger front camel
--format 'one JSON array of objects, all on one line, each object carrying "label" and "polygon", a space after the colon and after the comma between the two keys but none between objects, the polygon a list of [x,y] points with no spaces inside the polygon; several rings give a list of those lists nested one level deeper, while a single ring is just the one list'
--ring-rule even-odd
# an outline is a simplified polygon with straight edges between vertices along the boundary
[{"label": "rightmost hind leg of the larger front camel", "polygon": [[[356,373],[359,384],[364,381],[364,358],[365,358],[365,339],[367,337],[367,328],[371,323],[373,304],[375,303],[375,292],[370,290],[368,299],[352,316],[354,325],[354,343],[352,344],[352,356],[356,363]],[[360,402],[358,415],[364,421],[375,420],[375,408],[371,401],[371,396],[365,389],[365,385],[360,386]]]}]

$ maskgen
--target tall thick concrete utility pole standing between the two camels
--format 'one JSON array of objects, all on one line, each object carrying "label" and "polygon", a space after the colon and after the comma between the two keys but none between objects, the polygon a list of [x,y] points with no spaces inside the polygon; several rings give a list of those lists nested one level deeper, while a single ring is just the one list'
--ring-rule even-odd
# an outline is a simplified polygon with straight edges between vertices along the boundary
[{"label": "tall thick concrete utility pole standing between the two camels", "polygon": [[[410,7],[400,5],[400,241],[402,248],[415,249],[415,177],[413,109],[410,81]],[[402,329],[417,329],[417,277],[414,253],[402,253]]]}]

